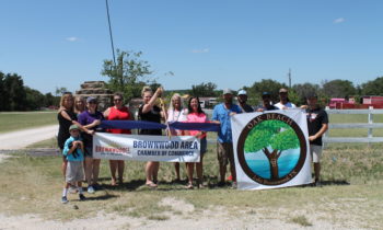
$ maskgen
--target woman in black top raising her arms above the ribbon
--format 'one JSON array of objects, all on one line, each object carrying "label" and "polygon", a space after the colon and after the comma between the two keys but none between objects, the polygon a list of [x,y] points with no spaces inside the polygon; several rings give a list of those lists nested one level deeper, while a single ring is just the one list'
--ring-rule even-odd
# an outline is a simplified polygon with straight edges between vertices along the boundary
[{"label": "woman in black top raising her arms above the ribbon", "polygon": [[[158,97],[161,97],[162,92],[163,92],[163,89],[158,88],[153,94],[153,91],[150,89],[150,87],[143,87],[141,91],[143,104],[138,110],[138,116],[141,120],[161,123],[161,117],[163,117],[163,114],[161,112],[161,108],[155,105],[155,100]],[[161,129],[140,129],[139,134],[161,136],[162,130]],[[144,170],[147,174],[147,182],[146,182],[147,186],[151,188],[155,188],[158,186],[156,182],[158,182],[159,169],[160,169],[160,162],[148,161]]]}]

